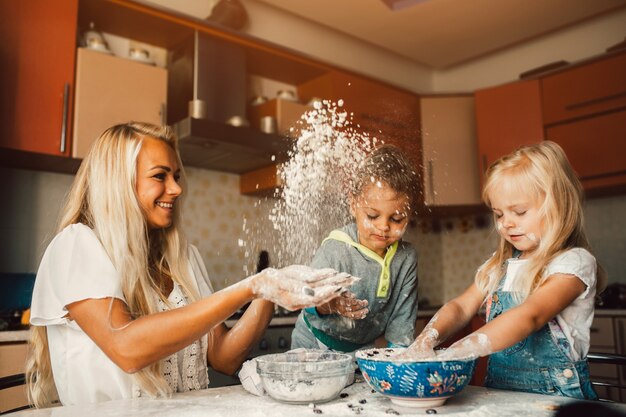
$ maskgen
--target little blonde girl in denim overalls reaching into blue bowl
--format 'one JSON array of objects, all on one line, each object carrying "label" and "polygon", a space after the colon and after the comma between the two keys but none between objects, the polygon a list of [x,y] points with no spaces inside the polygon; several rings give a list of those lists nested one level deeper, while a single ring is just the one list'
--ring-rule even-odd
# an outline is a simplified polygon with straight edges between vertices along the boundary
[{"label": "little blonde girl in denim overalls reaching into blue bowl", "polygon": [[597,398],[586,355],[606,276],[589,252],[582,187],[565,153],[544,141],[501,158],[487,170],[483,199],[500,234],[497,251],[405,354],[432,356],[486,302],[487,324],[438,358],[491,355],[486,386]]}]

